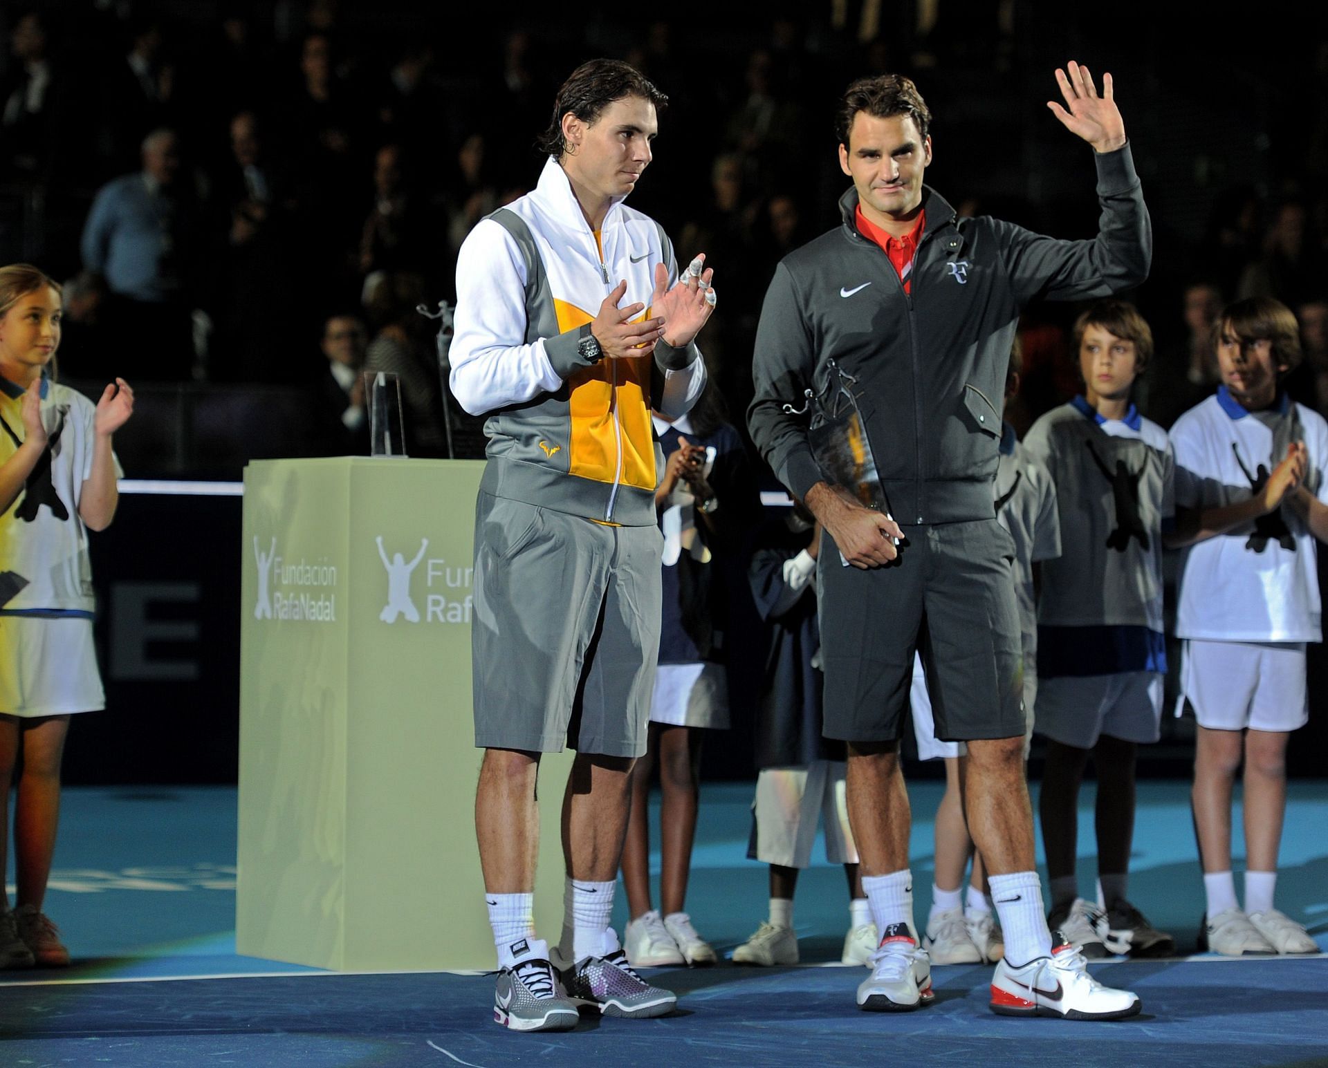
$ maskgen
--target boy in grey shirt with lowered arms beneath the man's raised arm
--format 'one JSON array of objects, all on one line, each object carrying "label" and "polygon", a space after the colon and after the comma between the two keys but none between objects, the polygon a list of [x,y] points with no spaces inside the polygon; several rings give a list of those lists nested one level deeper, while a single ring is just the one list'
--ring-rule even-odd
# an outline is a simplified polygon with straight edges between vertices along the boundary
[{"label": "boy in grey shirt with lowered arms beneath the man's raised arm", "polygon": [[[1171,935],[1126,898],[1134,766],[1157,742],[1166,643],[1162,531],[1173,512],[1166,431],[1130,403],[1153,352],[1133,305],[1102,300],[1074,324],[1084,395],[1052,409],[1025,448],[1056,482],[1062,553],[1042,565],[1035,728],[1046,736],[1038,812],[1052,892],[1048,923],[1085,957],[1163,955]],[[1074,874],[1078,788],[1097,771],[1098,902]]]}]

